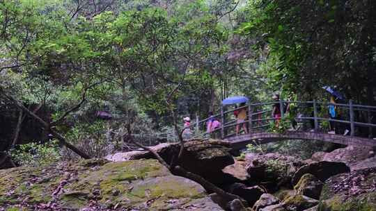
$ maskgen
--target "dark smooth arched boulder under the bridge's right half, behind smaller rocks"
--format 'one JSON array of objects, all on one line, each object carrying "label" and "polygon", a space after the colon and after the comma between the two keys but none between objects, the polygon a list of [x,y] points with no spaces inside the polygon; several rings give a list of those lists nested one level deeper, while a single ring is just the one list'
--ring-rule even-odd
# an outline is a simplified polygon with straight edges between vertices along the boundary
[{"label": "dark smooth arched boulder under the bridge's right half, behind smaller rocks", "polygon": [[343,162],[315,162],[306,164],[305,166],[297,170],[297,172],[292,177],[292,184],[297,184],[301,176],[303,176],[304,174],[313,174],[313,176],[324,182],[331,176],[346,172],[350,172],[350,168],[347,167],[347,165]]}]

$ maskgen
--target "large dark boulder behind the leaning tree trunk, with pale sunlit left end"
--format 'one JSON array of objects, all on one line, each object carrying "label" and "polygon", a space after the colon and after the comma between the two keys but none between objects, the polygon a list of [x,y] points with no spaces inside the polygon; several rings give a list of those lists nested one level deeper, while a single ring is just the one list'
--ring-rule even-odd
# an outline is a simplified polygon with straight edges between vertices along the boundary
[{"label": "large dark boulder behind the leaning tree trunk, with pale sunlit left end", "polygon": [[[167,163],[178,156],[180,144],[169,143],[153,146],[154,149]],[[238,181],[230,174],[224,174],[224,167],[234,164],[233,156],[229,153],[230,148],[219,141],[194,140],[185,142],[185,149],[178,164],[195,174],[201,175],[212,183],[234,183]],[[152,158],[147,151],[131,151],[107,156],[108,160],[121,161],[141,158]]]}]

